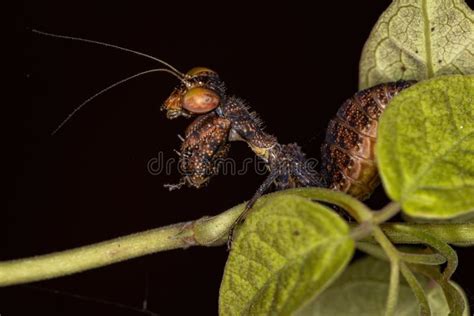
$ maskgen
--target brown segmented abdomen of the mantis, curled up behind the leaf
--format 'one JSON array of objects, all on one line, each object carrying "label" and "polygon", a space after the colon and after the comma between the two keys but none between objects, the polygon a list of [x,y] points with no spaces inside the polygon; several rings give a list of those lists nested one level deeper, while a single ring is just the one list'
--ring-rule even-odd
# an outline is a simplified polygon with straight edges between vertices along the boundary
[{"label": "brown segmented abdomen of the mantis, curled up behind the leaf", "polygon": [[378,120],[390,100],[414,81],[384,83],[357,92],[329,122],[321,147],[328,188],[365,199],[380,183],[375,163]]}]

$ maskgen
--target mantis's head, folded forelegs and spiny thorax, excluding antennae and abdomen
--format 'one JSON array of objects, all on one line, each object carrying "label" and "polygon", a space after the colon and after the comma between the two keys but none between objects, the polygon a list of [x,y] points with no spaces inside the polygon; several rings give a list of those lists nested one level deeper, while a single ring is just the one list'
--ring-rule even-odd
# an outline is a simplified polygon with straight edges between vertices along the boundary
[{"label": "mantis's head, folded forelegs and spiny thorax, excluding antennae and abdomen", "polygon": [[[225,157],[228,143],[232,141],[246,142],[269,170],[267,179],[237,222],[245,218],[255,201],[273,184],[278,190],[322,186],[321,177],[307,164],[301,148],[296,144],[282,145],[276,137],[264,132],[257,114],[250,112],[242,99],[227,96],[224,83],[214,71],[194,68],[186,77],[192,84],[182,82],[162,109],[168,118],[201,116],[188,127],[181,146],[180,165],[185,165],[188,172],[178,184],[168,185],[170,189],[183,184],[194,187],[206,184],[217,172],[216,161]],[[202,115],[205,109],[210,113]]]}]

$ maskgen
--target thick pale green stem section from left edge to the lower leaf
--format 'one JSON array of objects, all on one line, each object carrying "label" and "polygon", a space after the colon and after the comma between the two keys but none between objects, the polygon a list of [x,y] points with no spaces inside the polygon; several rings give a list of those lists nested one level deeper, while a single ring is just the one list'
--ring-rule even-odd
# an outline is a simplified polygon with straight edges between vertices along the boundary
[{"label": "thick pale green stem section from left edge to the lower leaf", "polygon": [[174,224],[89,246],[0,262],[0,286],[34,282],[90,270],[147,254],[225,242],[244,204],[214,217]]}]

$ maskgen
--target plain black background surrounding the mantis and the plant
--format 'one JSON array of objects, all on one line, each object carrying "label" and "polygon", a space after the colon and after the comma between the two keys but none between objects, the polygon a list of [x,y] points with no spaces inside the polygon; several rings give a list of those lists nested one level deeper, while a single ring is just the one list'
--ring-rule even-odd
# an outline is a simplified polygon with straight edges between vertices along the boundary
[{"label": "plain black background surrounding the mantis and the plant", "polygon": [[[3,106],[8,189],[2,260],[218,214],[252,196],[263,180],[253,173],[219,176],[204,189],[170,193],[163,184],[176,182],[177,172],[147,172],[147,161],[160,151],[175,157],[176,135],[189,124],[168,121],[159,110],[177,83],[166,74],[97,98],[50,136],[93,93],[157,65],[32,35],[29,27],[139,50],[182,71],[210,67],[282,143],[296,141],[319,156],[327,122],[357,91],[362,46],[390,1],[256,3],[31,1],[16,8],[15,58],[7,65],[14,72],[4,87],[10,99]],[[234,144],[231,155],[241,161],[251,153]],[[370,204],[386,202],[378,192]],[[459,255],[454,279],[472,302],[474,254],[461,249]],[[146,314],[139,311],[145,297],[160,315],[216,314],[226,257],[224,247],[175,250],[10,287],[0,294],[0,314],[140,315]]]}]

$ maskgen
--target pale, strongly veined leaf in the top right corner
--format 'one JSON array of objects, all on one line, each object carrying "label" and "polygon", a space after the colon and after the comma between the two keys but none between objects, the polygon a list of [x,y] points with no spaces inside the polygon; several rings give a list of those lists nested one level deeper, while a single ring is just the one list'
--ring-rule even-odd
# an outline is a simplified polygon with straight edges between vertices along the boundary
[{"label": "pale, strongly veined leaf in the top right corner", "polygon": [[395,0],[362,50],[359,88],[474,74],[474,12],[463,0]]}]

